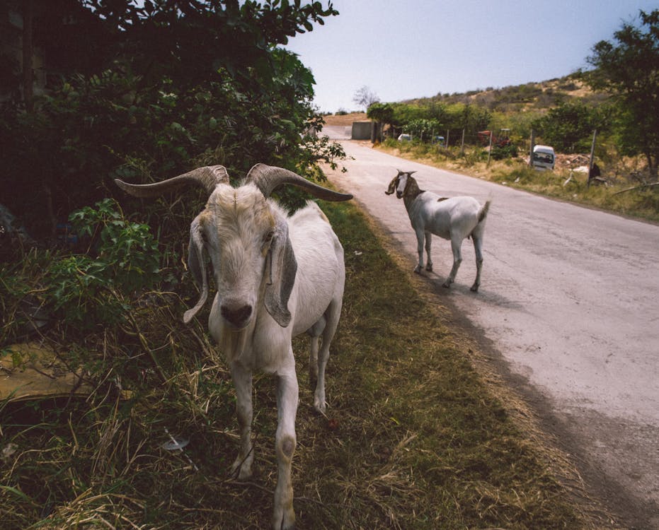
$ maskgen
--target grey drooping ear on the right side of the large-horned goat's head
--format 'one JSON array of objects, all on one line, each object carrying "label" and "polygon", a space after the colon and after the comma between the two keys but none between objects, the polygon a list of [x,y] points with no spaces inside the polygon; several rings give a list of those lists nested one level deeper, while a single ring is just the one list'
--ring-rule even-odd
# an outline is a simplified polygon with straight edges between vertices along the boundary
[{"label": "grey drooping ear on the right side of the large-horned goat's head", "polygon": [[288,300],[295,283],[297,261],[288,237],[288,225],[284,219],[277,220],[275,233],[268,252],[268,282],[265,285],[265,309],[277,324],[285,328],[291,322]]}]

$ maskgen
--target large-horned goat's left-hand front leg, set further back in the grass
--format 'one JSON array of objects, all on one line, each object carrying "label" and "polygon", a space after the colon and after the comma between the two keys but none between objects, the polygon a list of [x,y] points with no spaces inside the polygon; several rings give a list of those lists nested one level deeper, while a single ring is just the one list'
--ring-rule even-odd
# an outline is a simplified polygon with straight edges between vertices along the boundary
[{"label": "large-horned goat's left-hand front leg, set further back in the grass", "polygon": [[231,474],[240,480],[251,477],[254,448],[252,433],[252,373],[237,363],[231,365],[231,378],[236,387],[236,416],[240,431],[240,449],[236,461],[231,466]]}]

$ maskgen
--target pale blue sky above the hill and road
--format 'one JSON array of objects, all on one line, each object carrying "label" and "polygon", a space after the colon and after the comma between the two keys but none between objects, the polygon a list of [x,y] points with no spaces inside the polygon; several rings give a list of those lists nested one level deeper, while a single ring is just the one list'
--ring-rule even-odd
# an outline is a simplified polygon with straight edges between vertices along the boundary
[{"label": "pale blue sky above the hill and road", "polygon": [[[327,1],[323,1],[327,5]],[[367,86],[383,102],[502,88],[588,68],[600,40],[657,0],[335,0],[340,12],[286,46],[316,78],[323,112],[358,110]]]}]

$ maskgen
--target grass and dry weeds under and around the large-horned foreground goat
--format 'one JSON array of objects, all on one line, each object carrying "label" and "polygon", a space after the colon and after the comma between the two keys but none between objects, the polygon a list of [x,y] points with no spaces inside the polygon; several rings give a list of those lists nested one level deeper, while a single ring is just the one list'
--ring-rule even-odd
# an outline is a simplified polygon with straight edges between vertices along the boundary
[{"label": "grass and dry weeds under and around the large-horned foreground goat", "polygon": [[[297,527],[606,526],[583,509],[567,461],[539,442],[522,404],[476,370],[449,312],[420,293],[367,218],[351,204],[323,209],[343,242],[347,281],[327,416],[313,411],[309,341],[294,342]],[[207,338],[207,312],[185,327],[178,296],[142,302],[117,332],[75,345],[49,334],[62,357],[86,367],[88,398],[0,401],[3,529],[270,527],[273,380],[255,379],[256,475],[235,481],[234,389]],[[190,443],[166,450],[170,435]]]}]

